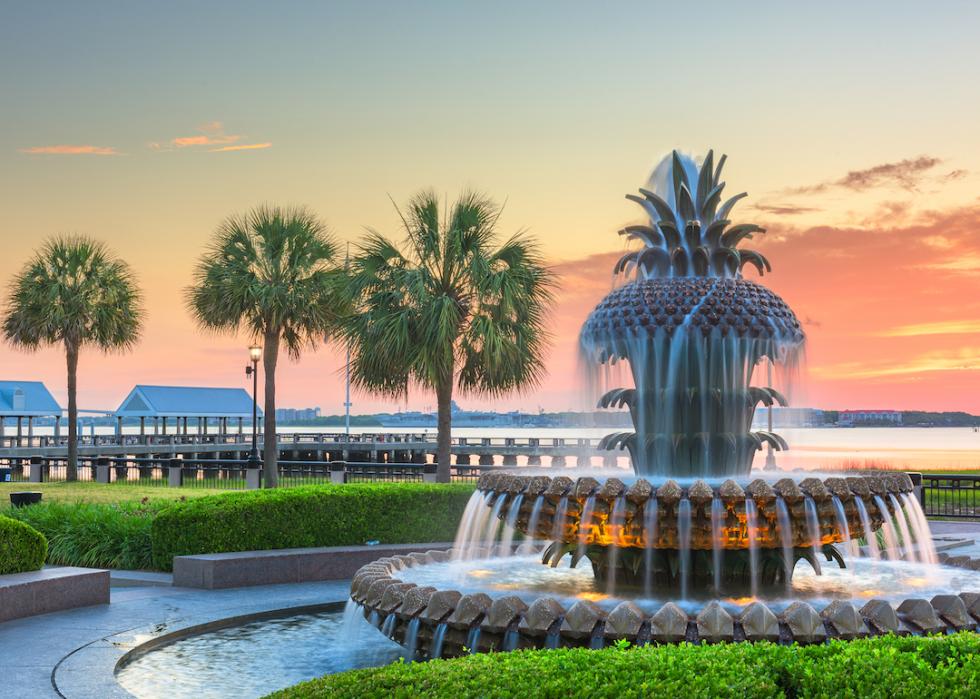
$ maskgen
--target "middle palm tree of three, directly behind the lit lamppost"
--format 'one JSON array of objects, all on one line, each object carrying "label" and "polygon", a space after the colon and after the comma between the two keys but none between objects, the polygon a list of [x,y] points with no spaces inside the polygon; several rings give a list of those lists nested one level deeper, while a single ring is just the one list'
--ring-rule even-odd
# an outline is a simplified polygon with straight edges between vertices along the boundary
[{"label": "middle palm tree of three, directly behind the lit lamppost", "polygon": [[324,224],[305,208],[261,206],[226,219],[187,289],[202,328],[244,328],[262,343],[265,370],[264,480],[279,484],[276,364],[280,346],[298,359],[322,342],[344,312],[343,270]]}]

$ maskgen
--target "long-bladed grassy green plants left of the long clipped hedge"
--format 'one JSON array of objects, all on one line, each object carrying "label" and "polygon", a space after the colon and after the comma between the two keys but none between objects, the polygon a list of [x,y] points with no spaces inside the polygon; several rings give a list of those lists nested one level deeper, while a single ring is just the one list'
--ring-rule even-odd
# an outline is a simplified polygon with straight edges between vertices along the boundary
[{"label": "long-bladed grassy green plants left of the long clipped hedge", "polygon": [[48,502],[10,511],[48,539],[48,562],[144,570],[153,565],[150,524],[166,502]]}]

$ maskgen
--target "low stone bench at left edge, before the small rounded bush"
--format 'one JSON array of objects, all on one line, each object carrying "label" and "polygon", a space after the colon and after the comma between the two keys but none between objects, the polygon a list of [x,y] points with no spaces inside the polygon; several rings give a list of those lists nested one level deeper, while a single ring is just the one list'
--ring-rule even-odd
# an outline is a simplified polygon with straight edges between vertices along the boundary
[{"label": "low stone bench at left edge, before the small rounded bush", "polygon": [[109,604],[109,571],[54,567],[0,575],[0,622]]}]

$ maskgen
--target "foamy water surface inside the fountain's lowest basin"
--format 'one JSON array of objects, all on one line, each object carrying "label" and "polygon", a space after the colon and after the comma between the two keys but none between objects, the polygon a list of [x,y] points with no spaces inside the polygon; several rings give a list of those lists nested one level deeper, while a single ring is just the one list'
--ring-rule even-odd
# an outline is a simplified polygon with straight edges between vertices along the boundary
[{"label": "foamy water surface inside the fountain's lowest basin", "polygon": [[[449,587],[447,582],[451,581],[451,586],[464,594],[485,592],[491,597],[516,594],[529,604],[541,595],[549,595],[567,603],[586,599],[611,609],[624,599],[631,599],[641,608],[653,612],[667,601],[696,609],[704,600],[713,598],[710,591],[703,597],[692,591],[689,599],[682,603],[676,592],[665,591],[662,596],[654,593],[652,597],[646,597],[639,589],[635,594],[617,590],[611,596],[596,582],[587,559],[578,568],[569,568],[568,561],[569,557],[566,557],[557,568],[542,565],[540,557],[536,556],[433,563],[399,571],[398,577],[405,582],[439,589]],[[798,599],[809,600],[818,608],[834,599],[852,600],[861,606],[862,600],[931,599],[938,594],[980,589],[980,572],[977,571],[868,558],[845,558],[845,561],[845,569],[825,564],[822,575],[817,575],[805,561],[801,561],[793,574],[792,590],[787,591],[783,586],[771,591],[760,590],[758,599],[779,611]],[[725,601],[732,606],[743,606],[751,599],[746,595]]]}]

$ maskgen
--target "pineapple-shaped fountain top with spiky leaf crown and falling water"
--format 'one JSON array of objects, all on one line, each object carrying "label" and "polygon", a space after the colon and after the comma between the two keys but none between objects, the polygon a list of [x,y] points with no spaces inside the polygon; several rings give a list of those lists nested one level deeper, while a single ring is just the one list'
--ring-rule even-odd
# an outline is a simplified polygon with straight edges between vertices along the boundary
[{"label": "pineapple-shaped fountain top with spiky leaf crown and falling water", "polygon": [[[592,311],[580,335],[586,364],[595,369],[629,362],[634,389],[614,389],[599,407],[627,407],[635,433],[608,435],[606,449],[626,449],[638,475],[691,478],[745,476],[763,444],[786,443],[751,432],[755,406],[786,405],[771,387],[750,386],[765,358],[792,365],[803,330],[776,294],[742,277],[769,261],[740,243],[764,229],[729,226],[737,194],[722,203],[725,163],[711,151],[696,163],[674,151],[654,172],[655,189],[627,198],[650,217],[621,235],[642,247],[626,253],[614,272],[626,283]],[[659,181],[658,181],[659,180]]]}]

